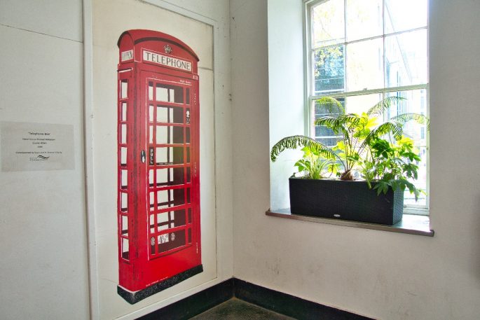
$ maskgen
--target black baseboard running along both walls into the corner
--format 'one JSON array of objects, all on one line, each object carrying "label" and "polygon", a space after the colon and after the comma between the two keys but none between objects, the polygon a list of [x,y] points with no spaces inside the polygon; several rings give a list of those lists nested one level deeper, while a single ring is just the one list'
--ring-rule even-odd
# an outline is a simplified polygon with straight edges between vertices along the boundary
[{"label": "black baseboard running along both walls into the corner", "polygon": [[186,320],[233,297],[299,320],[372,320],[236,278],[223,281],[139,319]]}]

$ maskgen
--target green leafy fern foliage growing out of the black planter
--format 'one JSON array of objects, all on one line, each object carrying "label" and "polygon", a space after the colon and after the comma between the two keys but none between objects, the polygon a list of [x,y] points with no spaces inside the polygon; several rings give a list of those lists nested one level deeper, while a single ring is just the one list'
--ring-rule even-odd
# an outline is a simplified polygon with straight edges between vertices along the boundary
[{"label": "green leafy fern foliage growing out of the black planter", "polygon": [[[341,102],[332,97],[322,97],[317,100],[324,109],[332,116],[323,116],[315,120],[315,125],[327,127],[336,136],[340,137],[333,147],[325,146],[315,139],[296,135],[285,137],[275,144],[270,152],[273,162],[285,149],[306,148],[308,152],[317,156],[315,158],[315,170],[317,168],[328,169],[334,172],[337,167],[343,171],[338,172],[341,180],[353,180],[353,170],[362,174],[369,186],[376,181],[378,193],[386,193],[388,188],[393,190],[409,188],[416,198],[420,191],[416,189],[409,179],[417,179],[420,157],[413,147],[413,141],[404,137],[404,125],[413,120],[430,127],[427,117],[418,113],[403,113],[392,117],[387,121],[380,121],[383,113],[390,109],[393,104],[403,100],[401,97],[387,97],[368,111],[357,113],[345,113]],[[380,124],[378,124],[380,123]],[[305,149],[304,149],[305,152]],[[299,171],[310,172],[310,179],[320,179],[322,174],[312,174],[312,162],[306,163],[305,154],[303,161],[296,162]],[[307,157],[308,158],[308,157]],[[325,162],[324,165],[316,162]],[[331,165],[336,163],[337,166]]]}]

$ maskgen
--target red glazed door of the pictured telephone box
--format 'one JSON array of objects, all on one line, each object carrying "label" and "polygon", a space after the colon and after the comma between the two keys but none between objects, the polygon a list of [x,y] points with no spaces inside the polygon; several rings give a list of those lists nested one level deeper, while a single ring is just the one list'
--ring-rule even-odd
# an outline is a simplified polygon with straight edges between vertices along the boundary
[{"label": "red glazed door of the pictured telephone box", "polygon": [[[177,274],[200,263],[195,83],[142,72],[146,97],[148,259],[167,257]],[[143,204],[142,204],[143,207]],[[195,222],[194,222],[195,221]]]}]

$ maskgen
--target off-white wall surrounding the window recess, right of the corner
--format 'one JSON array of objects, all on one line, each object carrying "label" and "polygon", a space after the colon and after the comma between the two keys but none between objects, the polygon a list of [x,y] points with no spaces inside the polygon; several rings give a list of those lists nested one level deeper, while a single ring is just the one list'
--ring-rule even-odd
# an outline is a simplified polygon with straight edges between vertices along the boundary
[{"label": "off-white wall surrounding the window recess, right of the corner", "polygon": [[266,2],[231,0],[235,277],[375,319],[478,319],[480,2],[430,4],[433,238],[265,216]]}]

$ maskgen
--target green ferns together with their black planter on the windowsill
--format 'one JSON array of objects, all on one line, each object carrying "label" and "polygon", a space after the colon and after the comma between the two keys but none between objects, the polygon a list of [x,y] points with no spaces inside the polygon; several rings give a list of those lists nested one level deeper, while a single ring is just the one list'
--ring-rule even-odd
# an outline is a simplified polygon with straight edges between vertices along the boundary
[{"label": "green ferns together with their black planter on the windowsill", "polygon": [[296,135],[273,146],[273,162],[285,149],[303,147],[303,158],[295,164],[303,176],[289,179],[292,214],[387,225],[402,220],[404,190],[408,188],[416,200],[420,194],[410,181],[418,177],[420,157],[403,128],[411,120],[430,126],[418,113],[378,123],[402,99],[387,97],[359,115],[345,113],[334,98],[322,97],[317,103],[332,116],[317,118],[315,125],[332,130],[340,137],[337,144],[329,147]]}]

